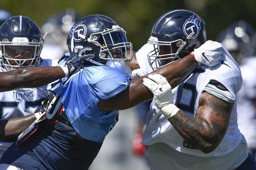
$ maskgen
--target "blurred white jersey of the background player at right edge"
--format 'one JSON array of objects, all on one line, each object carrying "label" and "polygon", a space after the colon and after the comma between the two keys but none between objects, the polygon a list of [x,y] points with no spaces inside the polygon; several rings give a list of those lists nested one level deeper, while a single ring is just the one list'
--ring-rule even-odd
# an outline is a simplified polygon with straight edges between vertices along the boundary
[{"label": "blurred white jersey of the background player at right edge", "polygon": [[256,99],[256,56],[245,59],[240,66],[243,85],[237,94],[238,126],[249,149],[256,149],[256,110],[252,99]]}]

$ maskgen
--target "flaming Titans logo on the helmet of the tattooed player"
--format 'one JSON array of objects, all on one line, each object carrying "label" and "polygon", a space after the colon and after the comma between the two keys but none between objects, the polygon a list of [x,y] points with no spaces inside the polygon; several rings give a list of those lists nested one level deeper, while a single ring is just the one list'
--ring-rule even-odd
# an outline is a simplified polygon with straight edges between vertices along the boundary
[{"label": "flaming Titans logo on the helmet of the tattooed player", "polygon": [[197,16],[197,14],[190,16],[189,19],[187,19],[183,25],[184,34],[186,36],[189,36],[189,34],[194,32],[195,34],[190,39],[194,39],[198,37],[199,31],[201,29],[200,23],[201,23],[201,20]]}]

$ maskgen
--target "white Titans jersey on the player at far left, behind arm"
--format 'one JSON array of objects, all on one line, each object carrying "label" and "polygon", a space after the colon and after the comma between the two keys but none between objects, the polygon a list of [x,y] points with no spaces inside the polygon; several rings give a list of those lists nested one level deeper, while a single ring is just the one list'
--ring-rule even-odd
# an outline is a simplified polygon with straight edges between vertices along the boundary
[{"label": "white Titans jersey on the player at far left, behind arm", "polygon": [[[42,59],[40,66],[55,66],[58,60]],[[6,71],[0,67],[0,71]],[[47,85],[40,88],[23,88],[0,93],[1,119],[27,116],[42,109],[42,101],[47,97]],[[0,150],[6,150],[13,142],[0,141]]]}]

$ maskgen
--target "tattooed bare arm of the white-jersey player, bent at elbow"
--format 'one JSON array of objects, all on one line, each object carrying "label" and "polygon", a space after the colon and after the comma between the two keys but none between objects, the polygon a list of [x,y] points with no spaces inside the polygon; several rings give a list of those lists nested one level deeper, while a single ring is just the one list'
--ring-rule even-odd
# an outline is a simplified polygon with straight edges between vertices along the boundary
[{"label": "tattooed bare arm of the white-jersey player, bent at elbow", "polygon": [[183,139],[204,153],[215,150],[223,139],[233,108],[233,103],[224,102],[207,92],[203,92],[198,102],[195,118],[183,111],[169,118]]}]

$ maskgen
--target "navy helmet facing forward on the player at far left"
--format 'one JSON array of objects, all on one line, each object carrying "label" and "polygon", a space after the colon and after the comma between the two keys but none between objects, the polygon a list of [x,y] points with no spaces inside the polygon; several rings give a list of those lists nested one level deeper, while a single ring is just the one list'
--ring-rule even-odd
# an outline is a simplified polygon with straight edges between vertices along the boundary
[{"label": "navy helmet facing forward on the player at far left", "polygon": [[44,40],[29,17],[15,16],[0,26],[1,66],[7,71],[40,65]]}]

